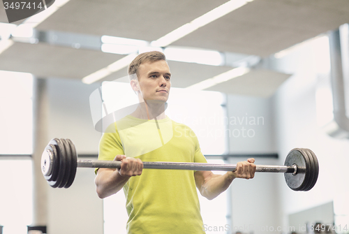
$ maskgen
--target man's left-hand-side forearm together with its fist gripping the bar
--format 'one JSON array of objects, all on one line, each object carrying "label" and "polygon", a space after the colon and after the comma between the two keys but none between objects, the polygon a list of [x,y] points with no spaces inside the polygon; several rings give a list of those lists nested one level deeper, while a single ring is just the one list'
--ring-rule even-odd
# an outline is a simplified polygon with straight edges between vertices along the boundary
[{"label": "man's left-hand-side forearm together with its fist gripping the bar", "polygon": [[125,155],[117,155],[115,161],[121,161],[120,170],[112,168],[100,168],[97,171],[95,183],[99,198],[106,198],[120,191],[131,176],[141,175],[143,163],[140,159],[126,158]]}]

